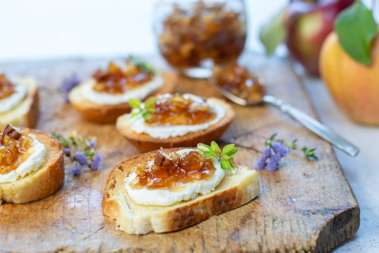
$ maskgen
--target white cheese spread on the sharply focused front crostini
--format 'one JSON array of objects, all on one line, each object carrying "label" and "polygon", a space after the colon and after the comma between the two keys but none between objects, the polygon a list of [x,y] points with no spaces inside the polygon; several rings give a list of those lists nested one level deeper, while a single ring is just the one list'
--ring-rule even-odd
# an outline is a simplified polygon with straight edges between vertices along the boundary
[{"label": "white cheese spread on the sharply focused front crostini", "polygon": [[[177,153],[183,155],[184,152],[188,153],[190,151],[194,151],[194,149],[182,149],[177,151]],[[135,172],[129,174],[129,176],[125,178],[125,189],[130,198],[138,204],[149,206],[171,206],[182,200],[190,200],[199,194],[204,195],[215,190],[215,187],[220,183],[221,179],[224,178],[225,171],[221,168],[221,165],[216,158],[212,158],[212,162],[213,166],[216,168],[215,174],[212,178],[208,180],[199,180],[197,182],[189,182],[183,185],[181,192],[172,192],[170,190],[162,189],[148,190],[146,188],[134,190],[129,184],[136,178],[137,174]],[[151,161],[151,163],[153,164],[153,161]]]}]

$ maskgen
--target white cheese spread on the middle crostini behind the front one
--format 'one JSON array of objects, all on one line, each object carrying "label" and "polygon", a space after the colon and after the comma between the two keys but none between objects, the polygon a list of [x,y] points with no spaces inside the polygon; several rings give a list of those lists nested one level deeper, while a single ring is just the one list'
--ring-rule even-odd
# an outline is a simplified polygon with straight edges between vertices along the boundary
[{"label": "white cheese spread on the middle crostini behind the front one", "polygon": [[[191,98],[193,101],[202,102],[202,99],[194,94],[183,94],[184,99]],[[177,136],[183,136],[185,134],[188,134],[189,132],[197,132],[199,130],[207,129],[209,126],[214,125],[218,123],[222,118],[226,115],[225,108],[217,104],[213,101],[207,100],[207,103],[213,110],[215,110],[216,118],[202,124],[195,124],[195,125],[179,125],[179,126],[147,126],[145,124],[145,120],[143,119],[142,115],[137,115],[132,119],[128,119],[130,124],[130,128],[136,132],[137,134],[148,134],[153,138],[159,138],[159,139],[167,139],[169,137],[177,137]]]}]

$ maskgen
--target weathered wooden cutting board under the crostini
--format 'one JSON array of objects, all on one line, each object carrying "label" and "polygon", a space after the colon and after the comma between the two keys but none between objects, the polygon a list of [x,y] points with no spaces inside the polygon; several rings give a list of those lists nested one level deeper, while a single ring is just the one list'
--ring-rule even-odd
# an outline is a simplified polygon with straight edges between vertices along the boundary
[{"label": "weathered wooden cutting board under the crostini", "polygon": [[[158,61],[159,62],[159,61]],[[245,53],[242,62],[265,79],[273,94],[316,117],[309,99],[291,71],[288,60]],[[139,154],[114,124],[86,121],[64,102],[62,80],[73,71],[89,75],[108,60],[65,60],[0,64],[0,72],[34,76],[40,86],[41,114],[36,128],[45,132],[97,137],[105,154],[99,171],[78,178],[66,164],[63,187],[32,203],[0,205],[2,252],[326,252],[359,227],[359,205],[331,146],[289,116],[268,105],[233,104],[236,118],[219,143],[240,148],[237,163],[253,168],[255,150],[277,132],[287,142],[316,147],[318,161],[308,162],[292,151],[276,172],[258,171],[260,194],[251,202],[195,226],[142,236],[115,229],[102,214],[101,200],[111,168]],[[159,64],[158,66],[161,66]],[[205,80],[179,79],[177,91],[221,97]]]}]

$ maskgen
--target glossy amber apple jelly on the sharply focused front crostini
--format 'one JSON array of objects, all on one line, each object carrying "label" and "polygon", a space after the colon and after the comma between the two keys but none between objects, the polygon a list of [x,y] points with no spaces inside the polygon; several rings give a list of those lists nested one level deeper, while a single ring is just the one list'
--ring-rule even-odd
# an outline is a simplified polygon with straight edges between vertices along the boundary
[{"label": "glossy amber apple jelly on the sharply focused front crostini", "polygon": [[[159,152],[161,151],[158,151],[157,156]],[[146,187],[148,190],[175,191],[182,189],[187,183],[210,179],[216,171],[211,159],[206,159],[196,151],[184,153],[182,156],[172,152],[169,158],[167,154],[165,156],[171,161],[168,166],[164,163],[161,166],[155,165],[156,161],[139,163],[135,171],[137,176],[129,186],[132,189]]]}]

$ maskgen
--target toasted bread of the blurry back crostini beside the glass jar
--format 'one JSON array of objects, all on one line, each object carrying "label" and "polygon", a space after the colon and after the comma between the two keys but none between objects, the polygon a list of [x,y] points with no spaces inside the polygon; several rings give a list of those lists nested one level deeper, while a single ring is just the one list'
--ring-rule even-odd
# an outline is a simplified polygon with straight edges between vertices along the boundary
[{"label": "toasted bread of the blurry back crostini beside the glass jar", "polygon": [[[164,79],[164,85],[159,90],[149,94],[149,96],[172,93],[175,90],[177,75],[172,72],[162,72],[161,75]],[[80,87],[81,85],[78,85],[70,91],[69,101],[86,119],[99,123],[114,123],[118,116],[129,113],[132,110],[129,103],[99,105],[88,101],[81,96]]]}]

